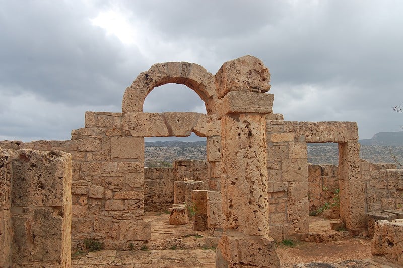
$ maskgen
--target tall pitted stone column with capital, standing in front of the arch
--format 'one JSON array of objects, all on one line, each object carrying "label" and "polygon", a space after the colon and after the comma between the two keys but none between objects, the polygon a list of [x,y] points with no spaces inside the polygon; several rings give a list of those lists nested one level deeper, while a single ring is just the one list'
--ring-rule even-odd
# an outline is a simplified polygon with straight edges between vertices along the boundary
[{"label": "tall pitted stone column with capital, standing in front of the arch", "polygon": [[262,92],[270,89],[269,80],[268,69],[251,56],[224,63],[216,74],[225,214],[216,267],[280,267],[268,236],[265,115],[274,97]]}]

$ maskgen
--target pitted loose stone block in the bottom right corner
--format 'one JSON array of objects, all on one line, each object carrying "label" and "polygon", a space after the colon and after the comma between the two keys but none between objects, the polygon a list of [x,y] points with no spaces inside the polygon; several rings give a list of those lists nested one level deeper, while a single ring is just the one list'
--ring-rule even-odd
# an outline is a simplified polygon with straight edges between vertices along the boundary
[{"label": "pitted loose stone block in the bottom right corner", "polygon": [[403,220],[377,221],[371,242],[371,254],[403,266]]}]

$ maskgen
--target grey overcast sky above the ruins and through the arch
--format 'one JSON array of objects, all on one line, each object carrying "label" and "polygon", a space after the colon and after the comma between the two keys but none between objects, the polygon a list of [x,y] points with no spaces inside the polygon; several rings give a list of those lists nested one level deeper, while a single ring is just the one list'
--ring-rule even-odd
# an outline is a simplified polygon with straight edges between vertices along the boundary
[{"label": "grey overcast sky above the ruins and through the arch", "polygon": [[[85,111],[121,112],[124,90],[157,62],[215,74],[244,55],[270,69],[274,112],[356,121],[360,139],[401,131],[402,1],[0,0],[0,140],[68,140]],[[170,84],[145,112],[196,111]]]}]

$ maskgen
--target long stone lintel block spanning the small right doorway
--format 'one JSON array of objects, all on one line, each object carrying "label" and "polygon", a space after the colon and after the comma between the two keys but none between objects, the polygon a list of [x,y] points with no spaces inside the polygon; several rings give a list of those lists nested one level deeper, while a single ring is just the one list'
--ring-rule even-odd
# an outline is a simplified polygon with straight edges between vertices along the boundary
[{"label": "long stone lintel block spanning the small right doorway", "polygon": [[356,122],[298,122],[299,133],[305,136],[306,142],[343,143],[358,140]]}]

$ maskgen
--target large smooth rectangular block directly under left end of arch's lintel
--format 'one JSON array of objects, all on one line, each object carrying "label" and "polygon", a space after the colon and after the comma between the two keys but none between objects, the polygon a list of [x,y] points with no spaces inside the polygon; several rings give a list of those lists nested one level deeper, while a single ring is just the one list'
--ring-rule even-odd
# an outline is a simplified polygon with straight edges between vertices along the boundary
[{"label": "large smooth rectangular block directly under left end of arch's lintel", "polygon": [[139,162],[144,162],[144,138],[112,137],[110,157],[111,159],[137,159]]}]

